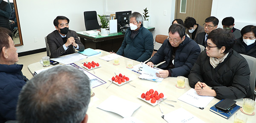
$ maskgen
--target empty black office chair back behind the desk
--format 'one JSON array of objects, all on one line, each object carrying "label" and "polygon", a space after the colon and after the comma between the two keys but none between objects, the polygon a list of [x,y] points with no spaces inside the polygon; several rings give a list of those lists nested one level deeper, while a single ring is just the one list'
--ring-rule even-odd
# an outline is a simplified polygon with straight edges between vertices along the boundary
[{"label": "empty black office chair back behind the desk", "polygon": [[84,11],[84,24],[86,31],[101,28],[97,20],[96,11]]}]

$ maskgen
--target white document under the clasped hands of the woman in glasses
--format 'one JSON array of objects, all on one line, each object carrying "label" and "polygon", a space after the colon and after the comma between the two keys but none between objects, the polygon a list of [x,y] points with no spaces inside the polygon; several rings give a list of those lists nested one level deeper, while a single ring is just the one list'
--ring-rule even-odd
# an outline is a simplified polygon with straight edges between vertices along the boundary
[{"label": "white document under the clasped hands of the woman in glasses", "polygon": [[181,95],[178,100],[188,103],[192,106],[204,109],[214,97],[201,96],[195,92],[195,89],[188,90],[185,94]]}]

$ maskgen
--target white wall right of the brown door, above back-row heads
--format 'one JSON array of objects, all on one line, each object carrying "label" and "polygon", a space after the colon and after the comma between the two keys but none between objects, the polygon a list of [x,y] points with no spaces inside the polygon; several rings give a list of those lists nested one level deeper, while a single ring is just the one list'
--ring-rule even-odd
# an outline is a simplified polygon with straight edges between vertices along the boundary
[{"label": "white wall right of the brown door, above back-row heads", "polygon": [[211,16],[219,20],[218,27],[225,17],[234,17],[235,28],[242,29],[247,25],[256,25],[256,0],[212,0]]}]

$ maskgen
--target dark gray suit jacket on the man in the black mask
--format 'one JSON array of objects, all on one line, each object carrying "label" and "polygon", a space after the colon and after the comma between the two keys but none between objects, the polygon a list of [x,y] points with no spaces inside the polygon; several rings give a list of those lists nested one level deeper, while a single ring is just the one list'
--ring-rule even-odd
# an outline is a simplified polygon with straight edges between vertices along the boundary
[{"label": "dark gray suit jacket on the man in the black mask", "polygon": [[[76,44],[79,45],[79,51],[84,51],[84,45],[81,43],[79,40],[76,31],[69,30],[67,32],[67,39],[69,37],[74,37],[76,39]],[[65,51],[63,48],[63,40],[61,35],[58,33],[57,30],[52,31],[52,33],[47,35],[47,43],[49,44],[49,49],[51,52],[50,58],[55,58],[59,57],[61,55],[66,55],[66,54],[72,54],[75,53],[75,49],[73,48],[73,45],[68,46],[68,49]]]}]

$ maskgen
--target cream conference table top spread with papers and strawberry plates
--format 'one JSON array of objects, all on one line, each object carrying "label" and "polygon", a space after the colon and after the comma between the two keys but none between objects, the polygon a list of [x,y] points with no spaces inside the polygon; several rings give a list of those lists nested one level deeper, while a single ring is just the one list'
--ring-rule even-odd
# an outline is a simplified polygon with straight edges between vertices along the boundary
[{"label": "cream conference table top spread with papers and strawberry plates", "polygon": [[[111,95],[114,95],[116,97],[138,103],[140,104],[140,108],[134,111],[131,117],[135,117],[137,120],[140,120],[144,123],[166,123],[166,120],[164,120],[161,116],[168,114],[170,112],[175,111],[176,109],[183,108],[189,113],[193,114],[195,117],[198,117],[199,119],[203,120],[205,123],[233,123],[234,121],[234,115],[232,115],[229,119],[225,119],[224,117],[219,116],[218,114],[215,114],[211,111],[209,111],[210,107],[218,103],[220,100],[214,98],[206,108],[199,109],[195,106],[192,106],[188,103],[184,103],[183,101],[178,100],[177,98],[180,97],[182,94],[187,92],[191,87],[189,86],[188,79],[185,79],[185,88],[179,89],[175,85],[177,83],[176,77],[167,77],[164,78],[161,83],[149,81],[149,80],[142,80],[138,78],[140,74],[137,74],[135,72],[132,72],[131,70],[126,68],[126,63],[128,58],[126,57],[120,57],[119,59],[119,65],[115,66],[113,65],[113,60],[111,61],[105,61],[102,59],[99,59],[99,57],[103,57],[105,55],[110,54],[107,51],[102,51],[97,49],[97,51],[100,51],[101,54],[97,54],[91,57],[88,57],[83,60],[79,60],[77,62],[74,62],[76,65],[82,67],[83,62],[91,62],[94,61],[96,63],[99,63],[101,67],[94,69],[94,72],[92,70],[89,70],[89,72],[100,79],[104,80],[106,83],[102,84],[100,86],[97,86],[93,88],[93,92],[95,95],[91,97],[90,105],[87,111],[88,114],[88,122],[87,123],[119,123],[120,120],[122,120],[122,116],[119,114],[113,113],[113,112],[107,112],[102,109],[97,108],[103,101],[108,99]],[[133,65],[140,64],[140,62],[137,62],[133,60]],[[52,67],[49,66],[49,67]],[[33,74],[34,71],[39,69],[44,69],[39,62],[38,63],[32,63],[28,66],[29,71]],[[113,76],[116,74],[123,74],[126,77],[129,77],[131,79],[130,84],[125,83],[122,86],[116,85],[114,83],[111,83],[109,81]],[[111,83],[111,85],[107,88],[107,86]],[[166,101],[166,103],[172,104],[175,107],[169,106],[163,102],[160,102],[161,109],[163,111],[163,114],[160,112],[160,108],[158,105],[152,106],[145,101],[137,98],[138,95],[141,95],[143,92],[148,91],[149,89],[157,90],[159,93],[162,92],[164,96],[166,96],[167,100],[175,100],[175,102],[169,102]],[[237,101],[237,105],[242,106],[243,99],[235,100]],[[124,105],[125,106],[125,105]],[[240,110],[238,110],[236,113],[243,114]],[[244,114],[245,115],[245,114]],[[246,115],[248,118],[247,123],[255,123],[256,116],[249,116]],[[184,122],[187,123],[187,122]]]}]

